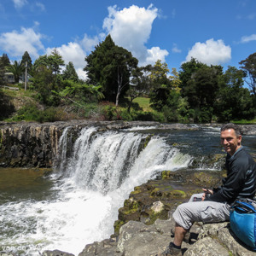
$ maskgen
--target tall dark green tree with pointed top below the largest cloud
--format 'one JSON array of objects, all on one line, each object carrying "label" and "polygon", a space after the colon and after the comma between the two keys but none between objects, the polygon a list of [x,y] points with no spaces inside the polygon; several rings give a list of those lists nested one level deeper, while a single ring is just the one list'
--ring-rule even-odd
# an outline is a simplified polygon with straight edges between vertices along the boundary
[{"label": "tall dark green tree with pointed top below the largest cloud", "polygon": [[90,84],[101,84],[105,99],[119,104],[129,89],[131,70],[137,67],[137,59],[127,49],[113,43],[110,35],[85,58],[84,71]]}]

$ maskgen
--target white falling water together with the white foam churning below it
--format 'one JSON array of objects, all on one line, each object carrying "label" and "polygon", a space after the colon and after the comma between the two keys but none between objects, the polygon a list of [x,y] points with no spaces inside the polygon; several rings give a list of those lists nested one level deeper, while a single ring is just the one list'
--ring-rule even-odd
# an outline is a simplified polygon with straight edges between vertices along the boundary
[{"label": "white falling water together with the white foam churning below it", "polygon": [[23,227],[22,232],[6,238],[5,244],[29,245],[27,255],[46,249],[78,254],[86,244],[108,238],[113,234],[118,208],[135,186],[159,171],[188,166],[191,160],[162,137],[151,137],[142,149],[147,134],[100,133],[95,127],[81,131],[73,156],[66,159],[67,131],[59,145],[62,176],[51,177],[55,185],[50,198],[7,203],[1,213],[5,214],[2,221],[16,221]]}]

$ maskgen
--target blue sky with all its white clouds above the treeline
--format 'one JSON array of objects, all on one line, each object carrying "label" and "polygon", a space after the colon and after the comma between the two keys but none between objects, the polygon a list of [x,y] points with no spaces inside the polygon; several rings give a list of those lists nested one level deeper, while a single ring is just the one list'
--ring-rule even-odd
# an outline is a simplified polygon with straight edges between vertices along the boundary
[{"label": "blue sky with all its white clouds above the treeline", "polygon": [[239,67],[256,51],[255,0],[0,0],[0,55],[32,60],[57,48],[85,78],[84,57],[111,34],[139,65],[191,56]]}]

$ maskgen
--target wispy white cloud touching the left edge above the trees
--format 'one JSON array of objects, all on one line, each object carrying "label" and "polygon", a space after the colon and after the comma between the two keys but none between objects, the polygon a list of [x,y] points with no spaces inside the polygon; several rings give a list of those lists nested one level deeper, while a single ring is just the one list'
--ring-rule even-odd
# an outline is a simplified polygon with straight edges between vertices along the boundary
[{"label": "wispy white cloud touching the left edge above the trees", "polygon": [[27,51],[32,57],[38,57],[38,51],[44,50],[42,38],[44,35],[35,32],[33,28],[21,27],[20,32],[0,34],[0,47],[10,56],[21,56]]}]

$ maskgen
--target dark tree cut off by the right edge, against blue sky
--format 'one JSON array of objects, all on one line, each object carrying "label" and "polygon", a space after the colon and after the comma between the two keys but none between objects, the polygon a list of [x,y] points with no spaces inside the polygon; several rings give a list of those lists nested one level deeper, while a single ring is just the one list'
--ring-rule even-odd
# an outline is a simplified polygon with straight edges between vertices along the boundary
[{"label": "dark tree cut off by the right edge, against blue sky", "polygon": [[241,69],[247,73],[245,81],[251,88],[253,95],[256,96],[256,52],[249,55],[245,60],[239,62]]}]

